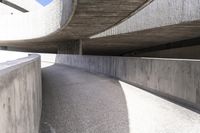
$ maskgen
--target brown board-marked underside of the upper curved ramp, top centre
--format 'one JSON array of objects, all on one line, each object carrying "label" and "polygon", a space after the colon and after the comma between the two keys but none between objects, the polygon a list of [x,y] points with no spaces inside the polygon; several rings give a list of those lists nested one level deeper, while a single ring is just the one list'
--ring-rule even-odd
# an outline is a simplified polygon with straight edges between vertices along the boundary
[{"label": "brown board-marked underside of the upper curved ramp, top centre", "polygon": [[88,38],[118,24],[148,1],[77,0],[72,19],[60,31],[39,41]]}]

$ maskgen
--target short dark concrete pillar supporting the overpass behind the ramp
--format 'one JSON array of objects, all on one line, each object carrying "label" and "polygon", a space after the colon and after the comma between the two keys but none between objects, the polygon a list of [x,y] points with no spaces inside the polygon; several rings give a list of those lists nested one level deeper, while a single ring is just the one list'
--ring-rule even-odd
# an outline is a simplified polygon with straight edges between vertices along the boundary
[{"label": "short dark concrete pillar supporting the overpass behind the ramp", "polygon": [[70,40],[58,45],[58,54],[76,54],[82,55],[82,41]]}]

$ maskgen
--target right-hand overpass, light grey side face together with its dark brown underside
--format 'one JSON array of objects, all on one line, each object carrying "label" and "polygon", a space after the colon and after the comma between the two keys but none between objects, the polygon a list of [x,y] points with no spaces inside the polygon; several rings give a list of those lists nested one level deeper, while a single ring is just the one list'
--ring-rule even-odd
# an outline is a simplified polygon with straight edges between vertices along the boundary
[{"label": "right-hand overpass, light grey side face together with its dark brown underside", "polygon": [[123,55],[200,36],[199,0],[154,0],[126,21],[83,42],[85,54]]}]

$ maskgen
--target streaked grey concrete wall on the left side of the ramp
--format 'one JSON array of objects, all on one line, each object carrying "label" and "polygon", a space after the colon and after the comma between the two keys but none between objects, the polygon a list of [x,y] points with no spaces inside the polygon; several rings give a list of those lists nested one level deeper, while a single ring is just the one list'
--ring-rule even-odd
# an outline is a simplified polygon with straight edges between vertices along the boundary
[{"label": "streaked grey concrete wall on the left side of the ramp", "polygon": [[41,91],[39,56],[0,64],[1,133],[38,133]]}]

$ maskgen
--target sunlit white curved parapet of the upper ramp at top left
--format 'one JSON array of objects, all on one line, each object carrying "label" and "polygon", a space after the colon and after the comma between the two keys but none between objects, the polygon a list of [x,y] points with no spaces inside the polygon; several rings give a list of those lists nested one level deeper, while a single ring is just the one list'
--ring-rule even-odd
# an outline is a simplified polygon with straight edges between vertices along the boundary
[{"label": "sunlit white curved parapet of the upper ramp at top left", "polygon": [[59,30],[70,18],[72,0],[53,0],[43,9],[1,15],[0,41],[36,39]]}]

